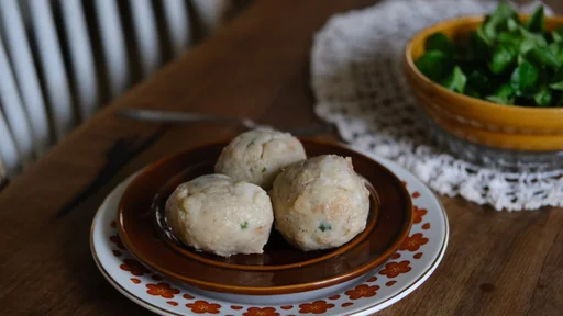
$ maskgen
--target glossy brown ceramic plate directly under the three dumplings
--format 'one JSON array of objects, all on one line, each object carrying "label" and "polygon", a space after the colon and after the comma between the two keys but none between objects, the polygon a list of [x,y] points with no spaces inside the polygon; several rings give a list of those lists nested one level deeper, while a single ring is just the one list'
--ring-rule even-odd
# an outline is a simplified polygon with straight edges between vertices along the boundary
[{"label": "glossy brown ceramic plate directly under the three dumplings", "polygon": [[179,282],[216,292],[272,295],[311,291],[361,276],[399,248],[412,222],[412,204],[401,181],[371,158],[342,145],[301,139],[308,157],[352,157],[367,180],[371,210],[366,229],[346,245],[303,252],[272,229],[263,255],[230,258],[197,252],[178,242],[165,221],[164,203],[176,185],[213,173],[227,143],[186,150],[142,171],[125,190],[119,210],[123,244],[145,266]]}]

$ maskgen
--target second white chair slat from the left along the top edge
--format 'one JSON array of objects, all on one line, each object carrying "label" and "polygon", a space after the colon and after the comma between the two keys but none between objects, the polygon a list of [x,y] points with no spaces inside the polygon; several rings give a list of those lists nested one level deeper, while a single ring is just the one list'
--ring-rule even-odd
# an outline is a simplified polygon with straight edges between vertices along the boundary
[{"label": "second white chair slat from the left along the top edge", "polygon": [[45,88],[57,140],[74,126],[70,89],[63,63],[60,43],[53,21],[51,2],[29,0],[31,24],[40,50],[38,59],[44,74]]}]

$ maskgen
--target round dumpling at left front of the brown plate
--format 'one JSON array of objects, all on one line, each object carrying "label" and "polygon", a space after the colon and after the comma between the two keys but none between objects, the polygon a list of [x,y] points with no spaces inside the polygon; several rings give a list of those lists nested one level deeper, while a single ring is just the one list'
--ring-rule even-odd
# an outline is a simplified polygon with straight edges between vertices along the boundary
[{"label": "round dumpling at left front of the brown plate", "polygon": [[166,221],[184,244],[229,257],[262,253],[274,214],[258,185],[208,174],[176,188],[166,201]]}]

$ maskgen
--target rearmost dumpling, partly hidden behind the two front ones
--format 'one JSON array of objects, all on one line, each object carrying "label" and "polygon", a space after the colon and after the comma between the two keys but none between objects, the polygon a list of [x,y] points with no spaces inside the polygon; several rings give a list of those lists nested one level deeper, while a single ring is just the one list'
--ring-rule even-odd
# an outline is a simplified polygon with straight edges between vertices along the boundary
[{"label": "rearmost dumpling, partly hidden behind the two front ones", "polygon": [[268,190],[282,168],[306,158],[301,142],[291,134],[254,129],[236,136],[223,149],[216,172]]}]

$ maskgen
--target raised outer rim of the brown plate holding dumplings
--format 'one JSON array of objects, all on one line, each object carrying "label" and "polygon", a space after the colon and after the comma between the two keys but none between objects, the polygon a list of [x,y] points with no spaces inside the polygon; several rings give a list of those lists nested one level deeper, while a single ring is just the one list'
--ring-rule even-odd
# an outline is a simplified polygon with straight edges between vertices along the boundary
[{"label": "raised outer rim of the brown plate holding dumplings", "polygon": [[[357,151],[350,146],[346,146],[345,144],[342,144],[340,142],[309,138],[309,137],[298,137],[298,138],[301,142],[317,143],[317,144],[321,144],[321,145],[325,145],[325,146],[340,147],[345,150],[354,151],[356,155],[363,156],[365,159],[368,159],[372,163],[377,165],[379,168],[386,170],[390,174],[390,177],[395,179],[395,181],[397,183],[399,183],[399,184],[401,183],[400,178],[396,173],[394,173],[389,168],[385,167],[383,163],[379,163],[375,159],[364,155],[363,153]],[[221,283],[216,283],[212,281],[202,281],[199,279],[186,278],[185,275],[178,275],[175,272],[169,271],[167,269],[162,269],[162,267],[158,267],[161,269],[158,269],[157,267],[154,267],[154,264],[151,263],[152,260],[148,260],[143,253],[140,255],[139,252],[131,250],[131,247],[133,246],[133,244],[131,242],[131,239],[129,238],[129,234],[125,233],[125,229],[123,226],[124,198],[128,195],[128,193],[130,194],[131,188],[133,187],[132,184],[135,183],[135,181],[137,179],[141,179],[143,176],[146,176],[146,173],[148,173],[148,171],[154,169],[155,167],[174,159],[176,156],[186,154],[187,151],[194,151],[194,150],[197,150],[197,149],[200,149],[203,147],[218,146],[221,144],[224,145],[225,142],[228,142],[228,140],[222,139],[220,142],[202,144],[200,146],[186,148],[179,153],[175,153],[175,154],[168,155],[164,158],[161,158],[161,159],[150,163],[147,167],[145,167],[137,174],[137,177],[135,177],[135,180],[133,180],[125,188],[123,195],[119,202],[119,206],[118,206],[119,207],[118,208],[118,221],[117,221],[118,234],[119,234],[122,242],[124,244],[124,246],[131,252],[131,255],[136,260],[142,262],[145,267],[150,267],[151,269],[154,269],[154,270],[158,271],[159,273],[163,273],[164,275],[166,275],[177,282],[184,282],[184,283],[190,284],[196,287],[200,287],[203,290],[210,290],[210,291],[214,291],[214,292],[220,292],[220,293],[249,294],[249,295],[291,294],[291,293],[299,293],[299,292],[312,291],[312,290],[318,290],[318,289],[324,289],[324,287],[336,285],[342,282],[358,278],[358,276],[369,272],[371,270],[379,267],[380,264],[384,264],[390,258],[390,256],[393,256],[393,253],[395,253],[400,248],[400,246],[404,244],[406,238],[409,236],[410,229],[412,227],[412,222],[415,219],[413,207],[412,207],[413,203],[410,198],[409,191],[404,185],[399,185],[400,195],[402,195],[405,198],[405,203],[406,203],[405,216],[406,216],[406,218],[405,218],[404,223],[401,224],[402,226],[401,226],[400,232],[398,233],[398,237],[391,242],[391,245],[386,249],[386,251],[383,255],[380,255],[378,258],[371,260],[345,274],[338,274],[338,275],[334,275],[334,276],[331,276],[331,278],[328,278],[324,280],[317,280],[317,281],[312,281],[312,282],[299,283],[299,284],[292,284],[292,285],[274,285],[274,286],[268,286],[268,287],[256,287],[256,286],[221,284]],[[377,191],[376,191],[376,193],[377,193]],[[151,223],[151,225],[152,225],[152,223]],[[164,247],[168,247],[168,246],[164,246]],[[135,248],[135,247],[133,246],[133,248]]]}]

